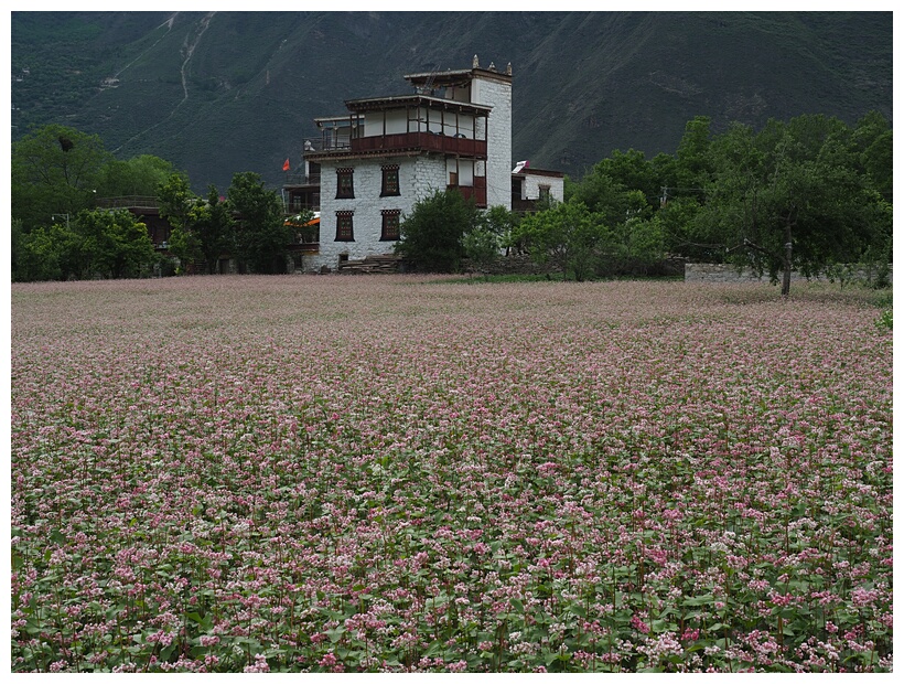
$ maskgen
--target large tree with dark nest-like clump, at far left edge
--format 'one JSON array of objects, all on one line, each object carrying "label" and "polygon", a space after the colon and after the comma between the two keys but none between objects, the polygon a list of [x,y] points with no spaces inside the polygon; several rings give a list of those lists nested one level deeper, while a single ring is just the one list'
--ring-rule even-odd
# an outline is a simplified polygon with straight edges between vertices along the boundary
[{"label": "large tree with dark nest-like clump, at far left edge", "polygon": [[12,217],[24,233],[54,214],[74,216],[94,205],[104,167],[112,156],[98,136],[51,124],[12,146]]}]

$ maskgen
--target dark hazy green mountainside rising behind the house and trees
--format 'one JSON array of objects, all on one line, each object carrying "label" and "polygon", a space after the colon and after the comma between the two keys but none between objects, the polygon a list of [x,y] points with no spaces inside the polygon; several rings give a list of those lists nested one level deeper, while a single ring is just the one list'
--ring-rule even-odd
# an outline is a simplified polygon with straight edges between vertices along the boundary
[{"label": "dark hazy green mountainside rising behind the house and trees", "polygon": [[301,160],[312,119],[406,73],[512,63],[516,159],[672,153],[697,115],[892,118],[891,12],[13,12],[12,137],[58,122],[201,191]]}]

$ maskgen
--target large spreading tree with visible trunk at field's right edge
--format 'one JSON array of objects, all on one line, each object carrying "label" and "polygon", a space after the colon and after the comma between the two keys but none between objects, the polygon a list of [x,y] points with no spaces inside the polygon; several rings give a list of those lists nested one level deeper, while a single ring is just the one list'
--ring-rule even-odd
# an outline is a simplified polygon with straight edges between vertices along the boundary
[{"label": "large spreading tree with visible trunk at field's right edge", "polygon": [[773,280],[782,274],[787,296],[792,270],[857,260],[891,234],[855,160],[850,130],[835,118],[771,120],[758,133],[734,125],[713,142],[715,171],[695,221],[721,236],[730,260]]}]

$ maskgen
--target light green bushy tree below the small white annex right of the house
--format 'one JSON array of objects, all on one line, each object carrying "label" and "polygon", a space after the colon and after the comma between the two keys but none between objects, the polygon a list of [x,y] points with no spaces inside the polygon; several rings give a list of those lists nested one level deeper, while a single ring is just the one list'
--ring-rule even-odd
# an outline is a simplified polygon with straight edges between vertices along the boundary
[{"label": "light green bushy tree below the small white annex right of the house", "polygon": [[564,278],[572,272],[578,281],[594,274],[612,243],[604,217],[578,201],[528,214],[521,220],[515,238],[536,261],[551,260]]}]

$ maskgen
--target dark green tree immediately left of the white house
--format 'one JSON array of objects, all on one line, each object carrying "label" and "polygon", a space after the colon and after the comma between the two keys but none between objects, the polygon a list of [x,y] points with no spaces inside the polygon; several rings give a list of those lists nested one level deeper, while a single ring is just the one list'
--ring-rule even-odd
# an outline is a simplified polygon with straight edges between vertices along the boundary
[{"label": "dark green tree immediately left of the white house", "polygon": [[244,172],[233,175],[226,196],[236,213],[237,256],[255,272],[286,272],[292,229],[286,226],[277,193],[263,188],[259,174]]}]

